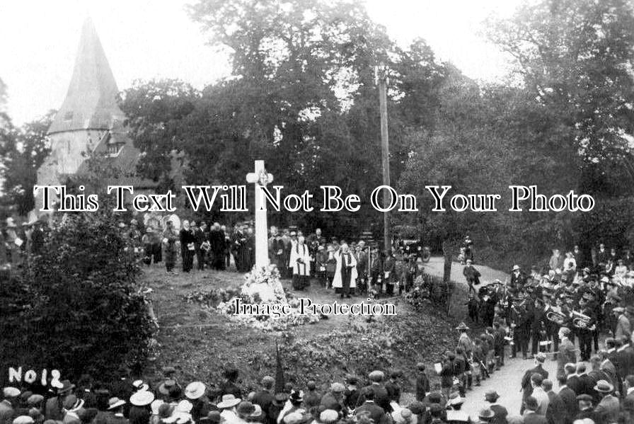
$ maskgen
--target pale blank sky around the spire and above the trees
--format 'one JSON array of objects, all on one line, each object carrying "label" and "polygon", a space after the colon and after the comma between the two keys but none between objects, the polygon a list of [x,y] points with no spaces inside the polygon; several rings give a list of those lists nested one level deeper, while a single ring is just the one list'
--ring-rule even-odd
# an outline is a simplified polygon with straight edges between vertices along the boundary
[{"label": "pale blank sky around the spire and above the trees", "polygon": [[[229,74],[226,56],[185,13],[192,0],[1,0],[0,79],[16,125],[62,105],[81,25],[93,19],[120,90],[136,79],[178,78],[197,88]],[[230,0],[228,0],[230,1]],[[500,81],[509,59],[481,36],[482,21],[521,0],[367,0],[371,18],[403,47],[424,38],[443,60]]]}]

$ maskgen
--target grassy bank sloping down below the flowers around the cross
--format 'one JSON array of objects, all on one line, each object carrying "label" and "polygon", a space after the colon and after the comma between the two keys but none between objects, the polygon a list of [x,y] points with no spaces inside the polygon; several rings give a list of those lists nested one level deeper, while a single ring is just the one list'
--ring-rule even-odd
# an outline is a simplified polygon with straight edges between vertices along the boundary
[{"label": "grassy bank sloping down below the flowers around the cross", "polygon": [[[234,271],[192,270],[191,273],[171,275],[165,272],[161,264],[144,267],[142,280],[154,290],[151,298],[160,325],[157,336],[160,354],[146,369],[146,375],[152,382],[159,382],[162,378],[161,368],[171,365],[177,369],[180,381],[200,379],[207,384],[218,383],[222,370],[231,366],[241,370],[241,385],[250,388],[263,375],[275,375],[277,341],[284,358],[285,372],[306,374],[290,375],[292,381],[316,379],[325,386],[330,379],[357,368],[354,367],[354,355],[347,358],[347,365],[340,365],[334,357],[332,363],[324,362],[324,353],[330,355],[330,349],[333,356],[345,355],[346,352],[336,349],[341,349],[343,342],[350,343],[350,340],[340,340],[340,337],[350,338],[352,335],[352,338],[358,338],[361,345],[369,343],[368,338],[376,338],[376,333],[370,332],[373,327],[381,328],[381,334],[385,333],[390,338],[386,342],[389,348],[386,349],[391,352],[388,362],[384,360],[384,363],[390,368],[403,369],[406,374],[415,362],[424,361],[431,367],[442,350],[453,348],[455,344],[454,327],[459,319],[446,318],[437,309],[415,311],[398,299],[394,302],[397,304],[398,316],[386,318],[385,322],[368,323],[359,316],[330,316],[329,319],[315,324],[293,327],[285,333],[265,333],[239,326],[217,313],[213,307],[200,302],[187,302],[185,299],[192,292],[238,287],[243,279],[242,274]],[[282,280],[282,285],[292,290],[289,280]],[[332,290],[326,290],[315,281],[308,291],[301,293],[301,297],[309,297],[315,303],[332,303],[339,299]],[[463,301],[458,300],[459,298],[463,299],[463,293],[458,292],[454,296],[454,311],[459,310],[457,308],[463,309]],[[364,299],[353,297],[349,302],[361,302]],[[306,345],[299,356],[296,353],[285,355],[288,343],[296,340],[316,344]],[[323,351],[319,352],[320,350]],[[322,359],[318,362],[316,357],[320,354]],[[379,357],[382,353],[370,352],[369,356],[375,354]],[[367,362],[367,358],[365,361]],[[410,382],[413,382],[413,378],[412,375]],[[408,384],[405,383],[404,386],[407,387]]]}]

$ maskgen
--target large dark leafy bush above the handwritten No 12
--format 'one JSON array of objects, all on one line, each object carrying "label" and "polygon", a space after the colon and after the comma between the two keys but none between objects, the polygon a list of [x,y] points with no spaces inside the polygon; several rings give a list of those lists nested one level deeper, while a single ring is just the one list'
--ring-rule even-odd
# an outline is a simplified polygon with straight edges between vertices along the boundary
[{"label": "large dark leafy bush above the handwritten No 12", "polygon": [[56,368],[64,378],[140,371],[153,324],[137,287],[137,259],[126,247],[107,212],[55,222],[45,253],[29,257],[23,272],[2,285],[0,362]]}]

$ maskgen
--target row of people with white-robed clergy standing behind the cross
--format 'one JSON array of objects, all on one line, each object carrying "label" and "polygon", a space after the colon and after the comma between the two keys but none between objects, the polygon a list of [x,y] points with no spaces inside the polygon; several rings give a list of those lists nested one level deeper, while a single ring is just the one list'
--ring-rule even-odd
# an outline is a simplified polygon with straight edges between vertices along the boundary
[{"label": "row of people with white-robed clergy standing behind the cross", "polygon": [[[136,219],[121,223],[122,233],[132,241],[146,265],[165,263],[175,273],[180,253],[183,272],[228,270],[248,272],[255,263],[255,237],[250,223],[236,224],[229,231],[219,223],[185,220],[177,230],[171,221],[165,229],[143,228]],[[378,243],[364,239],[326,239],[321,229],[308,235],[291,227],[270,228],[270,263],[284,278],[292,279],[294,290],[308,290],[311,282],[333,288],[340,297],[371,294],[374,297],[409,292],[424,274],[422,248],[403,244],[384,252]],[[428,253],[427,253],[428,254]]]}]

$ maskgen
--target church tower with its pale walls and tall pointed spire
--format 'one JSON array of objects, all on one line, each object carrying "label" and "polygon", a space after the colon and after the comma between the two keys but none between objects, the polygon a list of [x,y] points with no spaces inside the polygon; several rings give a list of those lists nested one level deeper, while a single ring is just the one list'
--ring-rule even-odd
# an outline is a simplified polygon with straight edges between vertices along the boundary
[{"label": "church tower with its pale walls and tall pointed spire", "polygon": [[126,171],[134,171],[139,151],[123,127],[118,92],[93,22],[87,18],[66,98],[48,130],[52,151],[38,170],[38,185],[63,184],[66,176],[81,171],[86,153],[103,153],[117,165],[132,166]]}]

